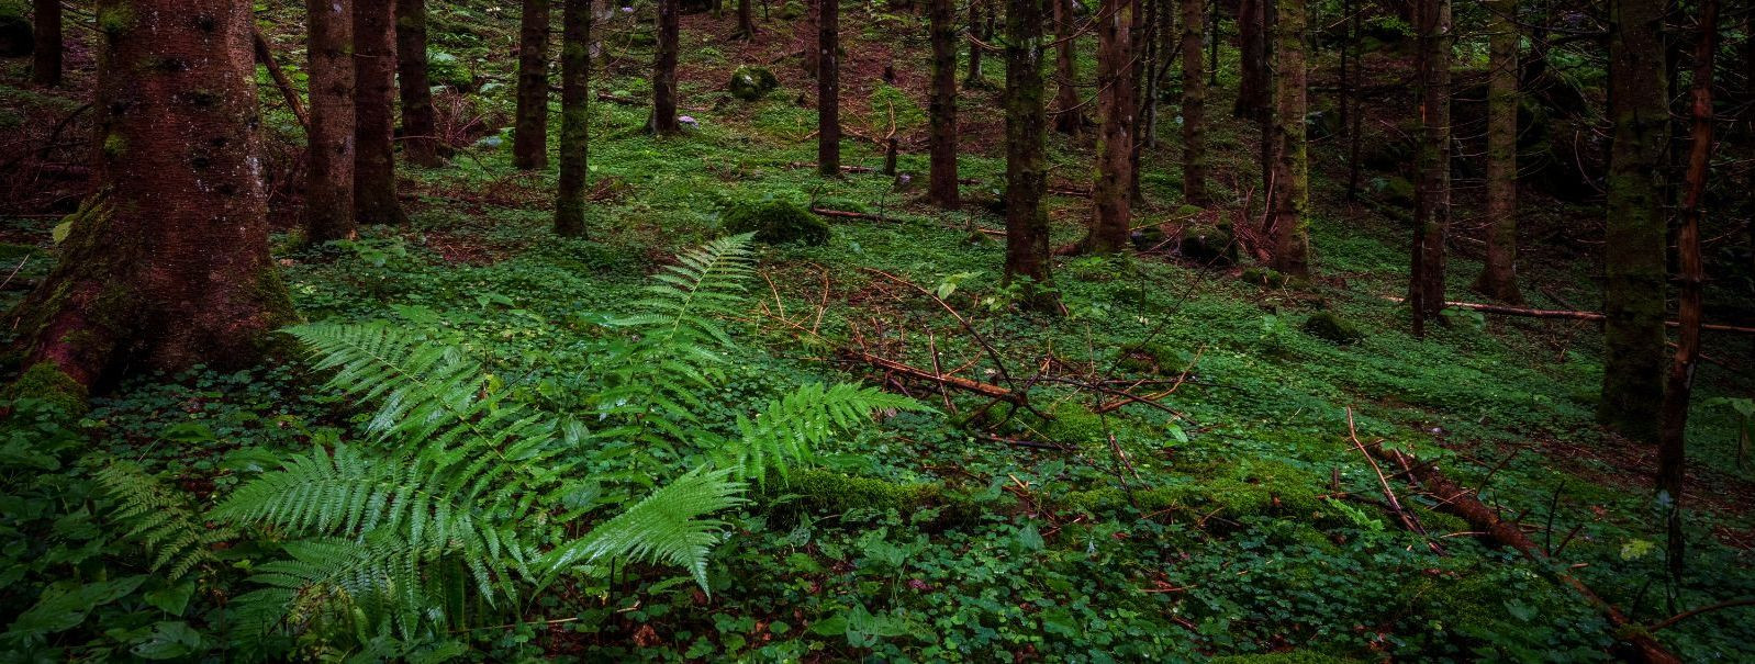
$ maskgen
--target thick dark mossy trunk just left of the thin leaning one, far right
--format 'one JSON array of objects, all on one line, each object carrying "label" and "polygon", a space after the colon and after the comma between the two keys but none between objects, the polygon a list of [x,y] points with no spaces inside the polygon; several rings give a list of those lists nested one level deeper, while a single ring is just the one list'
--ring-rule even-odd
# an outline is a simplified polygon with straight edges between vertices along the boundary
[{"label": "thick dark mossy trunk just left of the thin leaning one, far right", "polygon": [[1602,251],[1602,399],[1597,419],[1657,440],[1664,398],[1665,223],[1660,196],[1669,105],[1664,0],[1609,2],[1608,237]]}]

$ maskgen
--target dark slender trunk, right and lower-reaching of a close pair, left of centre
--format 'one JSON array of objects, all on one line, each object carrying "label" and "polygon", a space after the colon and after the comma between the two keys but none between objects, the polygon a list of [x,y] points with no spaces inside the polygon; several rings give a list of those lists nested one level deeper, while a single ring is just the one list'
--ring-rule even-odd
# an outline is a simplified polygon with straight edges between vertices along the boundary
[{"label": "dark slender trunk, right and lower-reaching of a close pair, left of centre", "polygon": [[562,0],[560,21],[560,194],[555,200],[555,235],[584,237],[591,147],[591,0]]}]

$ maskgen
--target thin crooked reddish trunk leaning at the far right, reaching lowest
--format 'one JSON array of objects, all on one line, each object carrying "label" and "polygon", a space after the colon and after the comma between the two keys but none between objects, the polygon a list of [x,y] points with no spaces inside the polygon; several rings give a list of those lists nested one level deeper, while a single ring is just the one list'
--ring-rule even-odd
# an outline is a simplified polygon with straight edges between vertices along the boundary
[{"label": "thin crooked reddish trunk leaning at the far right, reaching lowest", "polygon": [[1681,233],[1676,254],[1681,322],[1676,361],[1669,366],[1664,392],[1662,429],[1657,449],[1657,491],[1669,533],[1669,576],[1681,582],[1687,538],[1681,533],[1681,489],[1687,466],[1688,396],[1694,392],[1694,368],[1701,361],[1701,289],[1706,268],[1701,265],[1701,223],[1706,219],[1706,179],[1713,156],[1713,60],[1718,54],[1718,0],[1701,0],[1701,39],[1694,51],[1694,128],[1688,149],[1687,198],[1681,203]]}]

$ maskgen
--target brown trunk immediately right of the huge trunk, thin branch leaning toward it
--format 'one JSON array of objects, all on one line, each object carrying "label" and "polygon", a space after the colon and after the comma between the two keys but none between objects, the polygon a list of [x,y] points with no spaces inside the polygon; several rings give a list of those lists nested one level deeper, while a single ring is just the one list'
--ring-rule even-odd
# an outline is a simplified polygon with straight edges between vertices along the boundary
[{"label": "brown trunk immediately right of the huge trunk, thin branch leaning toward it", "polygon": [[353,219],[353,0],[305,0],[311,133],[305,240],[347,240]]}]

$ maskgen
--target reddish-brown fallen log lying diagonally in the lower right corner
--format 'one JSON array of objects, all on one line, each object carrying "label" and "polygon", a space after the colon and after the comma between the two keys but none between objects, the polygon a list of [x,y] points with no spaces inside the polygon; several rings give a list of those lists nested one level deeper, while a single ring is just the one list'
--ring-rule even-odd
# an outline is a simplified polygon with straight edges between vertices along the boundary
[{"label": "reddish-brown fallen log lying diagonally in the lower right corner", "polygon": [[1548,569],[1553,582],[1583,596],[1585,601],[1609,618],[1609,624],[1615,625],[1615,638],[1632,648],[1630,655],[1636,655],[1636,660],[1650,664],[1681,662],[1681,659],[1673,655],[1669,650],[1664,650],[1664,645],[1658,643],[1648,629],[1629,620],[1620,608],[1609,604],[1602,599],[1602,596],[1585,585],[1585,582],[1578,580],[1578,576],[1553,566],[1553,559],[1550,559],[1546,552],[1537,548],[1536,543],[1523,534],[1518,522],[1499,519],[1499,512],[1474,498],[1472,489],[1464,489],[1439,473],[1436,466],[1422,464],[1413,456],[1385,449],[1381,443],[1367,445],[1365,450],[1378,459],[1400,466],[1420,485],[1420,489],[1432,494],[1432,498],[1437,498],[1437,506],[1441,510],[1462,517],[1469,522],[1469,527],[1485,534],[1488,541],[1523,554],[1525,559],[1536,562],[1543,569]]}]

